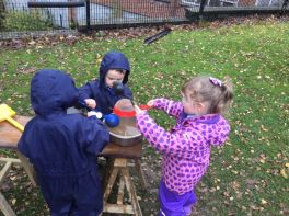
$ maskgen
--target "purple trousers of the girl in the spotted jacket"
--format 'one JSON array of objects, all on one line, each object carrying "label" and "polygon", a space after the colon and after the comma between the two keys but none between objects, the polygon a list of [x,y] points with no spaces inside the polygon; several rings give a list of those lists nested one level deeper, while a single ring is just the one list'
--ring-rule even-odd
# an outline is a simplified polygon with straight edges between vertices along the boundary
[{"label": "purple trousers of the girl in the spotted jacket", "polygon": [[187,192],[178,195],[170,191],[163,180],[160,183],[159,198],[161,204],[160,216],[186,216],[190,215],[192,207],[196,203],[195,193]]}]

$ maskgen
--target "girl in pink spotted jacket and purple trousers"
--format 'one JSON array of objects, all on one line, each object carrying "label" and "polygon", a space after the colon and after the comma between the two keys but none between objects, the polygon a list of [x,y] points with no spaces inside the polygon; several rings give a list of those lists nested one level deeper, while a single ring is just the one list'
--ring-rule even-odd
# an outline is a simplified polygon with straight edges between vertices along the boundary
[{"label": "girl in pink spotted jacket and purple trousers", "polygon": [[183,86],[182,96],[182,102],[167,99],[148,102],[176,118],[170,132],[136,106],[138,128],[163,155],[159,198],[160,215],[165,216],[190,214],[196,202],[194,187],[210,163],[210,147],[222,145],[230,132],[229,123],[221,115],[233,98],[229,81],[196,77]]}]

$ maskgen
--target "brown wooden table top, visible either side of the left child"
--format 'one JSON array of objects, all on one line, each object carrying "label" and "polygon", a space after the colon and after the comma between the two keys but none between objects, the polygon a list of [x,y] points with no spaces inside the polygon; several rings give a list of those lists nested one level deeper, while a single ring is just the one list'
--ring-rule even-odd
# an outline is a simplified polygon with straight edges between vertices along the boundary
[{"label": "brown wooden table top, visible either side of the left child", "polygon": [[[32,118],[31,116],[16,115],[13,117],[23,126]],[[12,126],[8,121],[0,122],[0,148],[18,147],[18,141],[21,137],[21,132]],[[140,158],[141,157],[141,143],[132,146],[119,146],[109,143],[99,156],[115,157],[115,158]]]}]

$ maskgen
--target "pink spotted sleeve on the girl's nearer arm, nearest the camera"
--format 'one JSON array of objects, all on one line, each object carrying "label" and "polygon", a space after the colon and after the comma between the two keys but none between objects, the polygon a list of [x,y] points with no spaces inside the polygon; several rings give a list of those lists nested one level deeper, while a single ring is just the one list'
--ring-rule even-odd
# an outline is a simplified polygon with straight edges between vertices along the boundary
[{"label": "pink spotted sleeve on the girl's nearer arm, nearest the camera", "polygon": [[199,143],[198,139],[201,139],[198,133],[195,135],[182,130],[169,133],[164,128],[158,126],[147,112],[142,112],[137,116],[137,126],[143,137],[158,151],[164,155],[190,159],[194,156],[193,146],[197,146],[197,143]]}]

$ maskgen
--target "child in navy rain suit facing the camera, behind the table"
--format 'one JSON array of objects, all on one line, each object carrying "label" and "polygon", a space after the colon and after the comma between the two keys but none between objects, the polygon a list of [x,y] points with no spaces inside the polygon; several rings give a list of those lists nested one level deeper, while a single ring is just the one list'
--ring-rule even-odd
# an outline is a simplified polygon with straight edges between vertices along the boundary
[{"label": "child in navy rain suit facing the camera, behind the table", "polygon": [[[115,103],[122,99],[132,99],[130,89],[126,86],[130,67],[127,57],[119,52],[109,52],[102,59],[100,78],[88,82],[79,89],[79,100],[86,106],[103,114],[109,114]],[[113,89],[114,82],[124,84],[124,92],[118,95]]]}]

